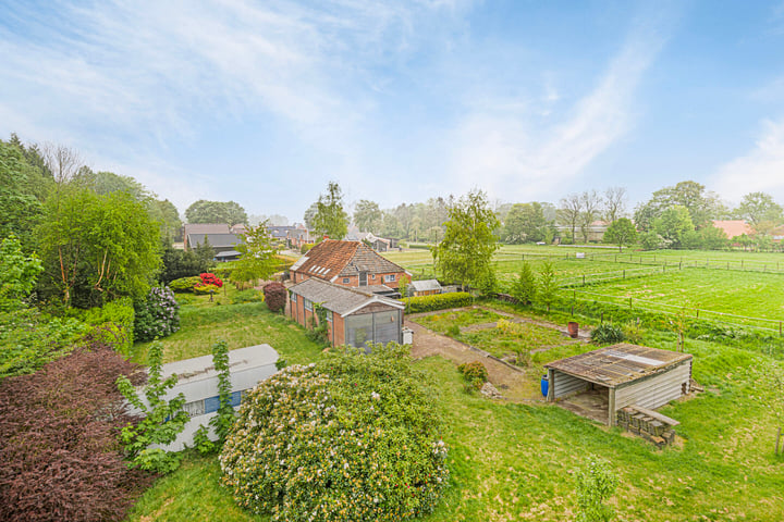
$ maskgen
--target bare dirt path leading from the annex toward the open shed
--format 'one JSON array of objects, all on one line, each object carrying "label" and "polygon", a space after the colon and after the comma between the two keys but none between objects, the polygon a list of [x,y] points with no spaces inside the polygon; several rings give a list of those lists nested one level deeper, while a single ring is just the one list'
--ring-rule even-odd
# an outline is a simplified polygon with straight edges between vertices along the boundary
[{"label": "bare dirt path leading from the annex toward the open shed", "polygon": [[424,359],[431,356],[441,356],[455,364],[464,362],[480,361],[488,370],[490,382],[501,395],[514,402],[543,401],[536,396],[531,389],[529,378],[524,370],[510,368],[509,365],[491,359],[478,351],[473,350],[463,343],[450,337],[438,335],[413,320],[406,318],[405,325],[414,331],[414,345],[412,357]]}]

